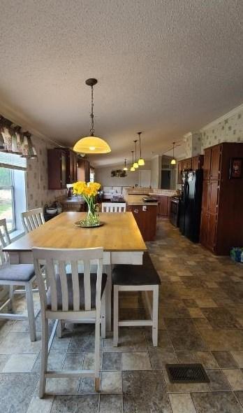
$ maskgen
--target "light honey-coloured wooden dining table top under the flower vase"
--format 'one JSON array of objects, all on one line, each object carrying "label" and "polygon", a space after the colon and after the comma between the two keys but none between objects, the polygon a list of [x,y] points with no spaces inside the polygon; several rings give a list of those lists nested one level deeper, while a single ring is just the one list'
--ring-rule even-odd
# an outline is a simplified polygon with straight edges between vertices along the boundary
[{"label": "light honey-coloured wooden dining table top under the flower vase", "polygon": [[78,228],[76,221],[84,212],[63,212],[6,246],[4,251],[31,251],[33,246],[44,248],[104,248],[104,251],[147,251],[145,242],[131,212],[101,213],[104,225],[98,228]]}]

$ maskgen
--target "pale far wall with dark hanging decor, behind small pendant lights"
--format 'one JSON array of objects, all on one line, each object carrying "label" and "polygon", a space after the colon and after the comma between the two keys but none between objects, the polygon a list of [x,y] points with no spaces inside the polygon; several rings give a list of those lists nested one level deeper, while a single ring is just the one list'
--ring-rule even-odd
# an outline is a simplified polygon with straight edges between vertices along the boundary
[{"label": "pale far wall with dark hanging decor, behind small pendant lights", "polygon": [[[124,165],[115,165],[113,167],[96,168],[95,169],[95,180],[101,183],[101,186],[135,186],[139,185],[139,169],[135,172],[126,172],[127,176],[124,178],[117,178],[116,176],[110,176],[110,172],[116,169],[123,169]],[[145,162],[144,167],[140,169],[150,169],[150,162]]]}]

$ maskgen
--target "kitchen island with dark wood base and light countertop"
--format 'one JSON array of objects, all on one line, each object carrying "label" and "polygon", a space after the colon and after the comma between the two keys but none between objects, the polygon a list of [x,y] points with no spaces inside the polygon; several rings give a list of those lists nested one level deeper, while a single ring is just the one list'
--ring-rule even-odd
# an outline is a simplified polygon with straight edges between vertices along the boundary
[{"label": "kitchen island with dark wood base and light countertop", "polygon": [[158,202],[146,202],[145,195],[124,195],[126,210],[131,211],[144,241],[153,241],[156,235]]}]

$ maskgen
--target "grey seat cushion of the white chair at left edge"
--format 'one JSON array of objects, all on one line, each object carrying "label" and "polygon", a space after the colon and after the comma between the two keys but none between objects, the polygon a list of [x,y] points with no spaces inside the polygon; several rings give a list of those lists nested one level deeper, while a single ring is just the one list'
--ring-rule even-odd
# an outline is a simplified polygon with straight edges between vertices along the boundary
[{"label": "grey seat cushion of the white chair at left edge", "polygon": [[0,268],[1,281],[29,281],[35,275],[32,264],[10,264]]}]

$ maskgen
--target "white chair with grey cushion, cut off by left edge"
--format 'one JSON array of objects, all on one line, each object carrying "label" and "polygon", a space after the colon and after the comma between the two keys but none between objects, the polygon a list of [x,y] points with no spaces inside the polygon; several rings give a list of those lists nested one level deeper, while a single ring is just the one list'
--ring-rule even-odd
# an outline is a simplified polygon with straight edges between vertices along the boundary
[{"label": "white chair with grey cushion, cut off by left edge", "polygon": [[[6,219],[0,220],[0,286],[9,286],[9,297],[0,307],[0,318],[11,320],[28,320],[29,335],[32,342],[36,341],[36,321],[34,314],[34,302],[32,284],[36,279],[34,266],[31,264],[14,264],[8,262],[8,254],[3,248],[10,244],[10,237],[6,225]],[[27,300],[27,316],[25,314],[13,314],[1,312],[6,306],[9,311],[14,311],[14,286],[22,286]],[[16,290],[20,292],[20,290]],[[39,311],[38,311],[39,312]],[[38,313],[36,314],[36,316]]]}]

